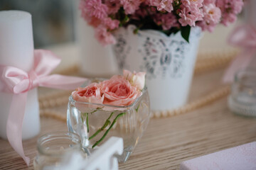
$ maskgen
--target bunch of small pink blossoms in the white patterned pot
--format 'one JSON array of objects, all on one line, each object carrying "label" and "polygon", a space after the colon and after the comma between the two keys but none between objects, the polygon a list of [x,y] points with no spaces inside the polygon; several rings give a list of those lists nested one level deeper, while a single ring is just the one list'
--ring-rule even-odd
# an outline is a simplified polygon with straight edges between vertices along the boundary
[{"label": "bunch of small pink blossoms in the white patterned pot", "polygon": [[188,41],[191,27],[212,32],[218,23],[228,26],[242,10],[243,0],[81,0],[82,17],[95,28],[103,45],[116,42],[112,33],[129,24],[138,30],[181,31]]}]

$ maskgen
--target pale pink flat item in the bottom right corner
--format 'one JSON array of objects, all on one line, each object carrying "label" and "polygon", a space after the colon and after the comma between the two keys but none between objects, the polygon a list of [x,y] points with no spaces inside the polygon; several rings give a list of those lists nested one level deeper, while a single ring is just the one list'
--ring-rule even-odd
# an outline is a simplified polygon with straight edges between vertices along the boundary
[{"label": "pale pink flat item in the bottom right corner", "polygon": [[182,162],[180,170],[256,169],[256,142]]}]

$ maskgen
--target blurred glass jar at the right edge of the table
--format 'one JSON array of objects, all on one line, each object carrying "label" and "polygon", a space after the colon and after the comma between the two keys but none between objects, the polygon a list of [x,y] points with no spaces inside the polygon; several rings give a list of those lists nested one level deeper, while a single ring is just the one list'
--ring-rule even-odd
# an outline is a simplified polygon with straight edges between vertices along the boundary
[{"label": "blurred glass jar at the right edge of the table", "polygon": [[241,70],[235,74],[228,106],[233,113],[256,116],[256,69]]}]

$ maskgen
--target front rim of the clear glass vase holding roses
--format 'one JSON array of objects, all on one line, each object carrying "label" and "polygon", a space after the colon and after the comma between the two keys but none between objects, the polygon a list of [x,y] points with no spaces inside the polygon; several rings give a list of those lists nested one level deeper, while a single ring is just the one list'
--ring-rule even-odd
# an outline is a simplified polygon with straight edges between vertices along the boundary
[{"label": "front rim of the clear glass vase holding roses", "polygon": [[140,101],[140,99],[142,98],[142,96],[144,96],[144,94],[147,91],[147,87],[144,86],[144,89],[142,89],[142,95],[139,96],[138,98],[136,98],[134,100],[134,102],[132,102],[132,104],[128,105],[128,106],[115,106],[115,105],[109,105],[109,104],[103,104],[103,103],[90,103],[90,102],[83,102],[83,101],[75,101],[75,99],[73,98],[72,95],[69,96],[68,100],[71,101],[72,103],[78,103],[78,104],[84,104],[84,105],[93,105],[93,106],[99,106],[99,108],[102,107],[111,107],[111,108],[132,108],[133,106],[135,106],[137,104],[137,102]]}]

